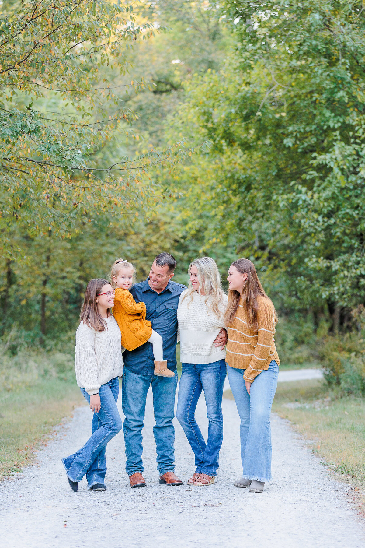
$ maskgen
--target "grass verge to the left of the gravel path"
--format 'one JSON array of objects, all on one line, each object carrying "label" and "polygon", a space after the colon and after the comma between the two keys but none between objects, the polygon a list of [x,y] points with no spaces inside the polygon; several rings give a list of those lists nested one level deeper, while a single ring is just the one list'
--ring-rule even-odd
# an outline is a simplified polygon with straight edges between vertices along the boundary
[{"label": "grass verge to the left of the gravel path", "polygon": [[1,391],[0,479],[31,464],[54,426],[85,400],[73,381],[42,379],[30,387]]}]

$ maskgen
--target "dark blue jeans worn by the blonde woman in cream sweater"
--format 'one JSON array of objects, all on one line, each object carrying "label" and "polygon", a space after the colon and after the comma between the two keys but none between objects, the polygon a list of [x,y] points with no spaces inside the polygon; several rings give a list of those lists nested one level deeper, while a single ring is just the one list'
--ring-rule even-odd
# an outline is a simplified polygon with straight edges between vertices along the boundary
[{"label": "dark blue jeans worn by the blonde woman in cream sweater", "polygon": [[[176,417],[195,455],[196,472],[216,476],[223,441],[222,397],[226,375],[224,359],[213,363],[183,363]],[[205,443],[195,409],[201,391],[207,406],[208,438]]]}]

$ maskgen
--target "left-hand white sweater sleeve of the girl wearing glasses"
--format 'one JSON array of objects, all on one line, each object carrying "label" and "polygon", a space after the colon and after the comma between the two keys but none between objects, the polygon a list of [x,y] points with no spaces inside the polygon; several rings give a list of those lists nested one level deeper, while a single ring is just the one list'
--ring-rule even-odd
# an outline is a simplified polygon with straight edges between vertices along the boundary
[{"label": "left-hand white sweater sleeve of the girl wearing glasses", "polygon": [[99,393],[100,389],[94,340],[94,330],[80,324],[76,333],[75,373],[78,386],[84,388],[89,396]]}]

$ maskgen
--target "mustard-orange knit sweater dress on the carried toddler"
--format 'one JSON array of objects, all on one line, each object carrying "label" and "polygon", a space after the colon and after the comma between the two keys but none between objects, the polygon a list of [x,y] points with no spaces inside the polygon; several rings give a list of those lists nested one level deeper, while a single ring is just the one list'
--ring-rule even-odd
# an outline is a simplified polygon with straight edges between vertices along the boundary
[{"label": "mustard-orange knit sweater dress on the carried toddler", "polygon": [[135,350],[147,343],[152,335],[152,323],[146,319],[146,305],[136,302],[127,289],[115,288],[114,318],[121,332],[121,344]]}]

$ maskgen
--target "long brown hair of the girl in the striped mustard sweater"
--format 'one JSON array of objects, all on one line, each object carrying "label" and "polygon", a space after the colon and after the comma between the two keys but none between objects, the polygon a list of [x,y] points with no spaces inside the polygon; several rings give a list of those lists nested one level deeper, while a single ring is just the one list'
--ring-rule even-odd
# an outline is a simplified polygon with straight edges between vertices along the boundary
[{"label": "long brown hair of the girl in the striped mustard sweater", "polygon": [[[266,299],[269,299],[268,295],[264,292],[264,288],[261,285],[260,280],[258,279],[256,269],[254,264],[250,259],[237,259],[231,263],[231,266],[235,266],[239,272],[247,274],[247,279],[245,281],[244,287],[242,289],[242,306],[246,312],[247,324],[250,329],[257,331],[257,297],[261,295]],[[224,322],[226,326],[233,327],[234,319],[237,313],[237,309],[240,304],[241,295],[238,291],[234,289],[229,289],[228,291],[228,306],[224,315]],[[269,299],[270,300],[270,299]],[[277,322],[277,314],[274,308],[275,314],[275,323]]]}]

